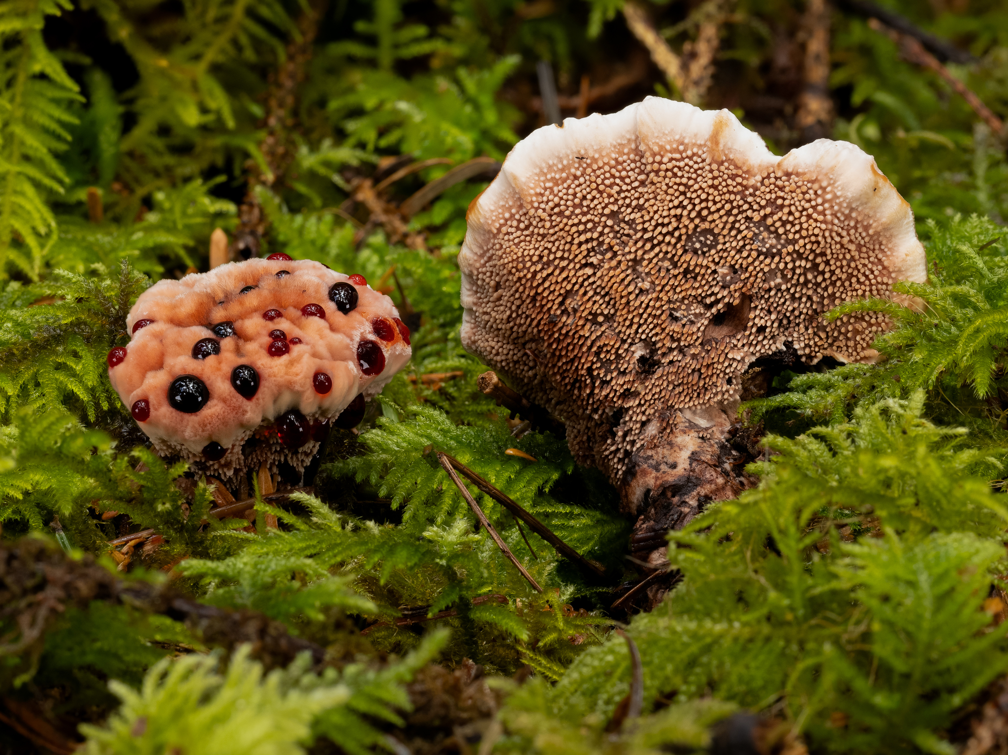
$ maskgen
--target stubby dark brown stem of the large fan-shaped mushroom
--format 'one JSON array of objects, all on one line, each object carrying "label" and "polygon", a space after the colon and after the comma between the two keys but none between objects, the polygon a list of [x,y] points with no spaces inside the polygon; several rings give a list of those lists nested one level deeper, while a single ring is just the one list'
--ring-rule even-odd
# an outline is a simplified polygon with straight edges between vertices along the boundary
[{"label": "stubby dark brown stem of the large fan-shaped mushroom", "polygon": [[637,516],[630,538],[635,558],[664,560],[668,531],[755,483],[743,469],[745,456],[729,443],[735,409],[734,403],[691,407],[648,425],[620,485],[621,508]]}]

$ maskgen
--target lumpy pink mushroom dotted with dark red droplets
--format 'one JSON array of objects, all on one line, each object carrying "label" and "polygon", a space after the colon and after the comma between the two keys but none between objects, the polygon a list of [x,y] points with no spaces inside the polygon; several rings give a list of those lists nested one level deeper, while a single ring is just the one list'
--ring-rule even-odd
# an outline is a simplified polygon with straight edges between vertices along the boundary
[{"label": "lumpy pink mushroom dotted with dark red droplets", "polygon": [[328,423],[363,416],[409,360],[392,300],[363,277],[274,257],[159,281],[130,310],[109,379],[162,456],[221,477],[303,470]]}]

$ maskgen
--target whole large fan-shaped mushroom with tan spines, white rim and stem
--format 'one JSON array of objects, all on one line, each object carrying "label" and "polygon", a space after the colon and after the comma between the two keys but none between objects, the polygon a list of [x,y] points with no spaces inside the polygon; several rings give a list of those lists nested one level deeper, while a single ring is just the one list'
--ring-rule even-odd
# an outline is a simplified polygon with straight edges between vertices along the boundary
[{"label": "whole large fan-shaped mushroom with tan spines, white rim and stem", "polygon": [[658,98],[534,132],[468,222],[464,345],[566,421],[638,538],[749,484],[727,440],[754,361],[872,361],[880,315],[823,314],[926,277],[856,146],[778,158],[728,111]]}]

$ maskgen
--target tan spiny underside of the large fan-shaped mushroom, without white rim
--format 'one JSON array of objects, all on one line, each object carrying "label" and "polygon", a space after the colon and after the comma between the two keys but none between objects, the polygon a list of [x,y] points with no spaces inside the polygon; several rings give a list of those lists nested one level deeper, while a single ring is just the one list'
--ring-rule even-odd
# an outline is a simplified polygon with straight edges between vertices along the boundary
[{"label": "tan spiny underside of the large fan-shaped mushroom, without white rim", "polygon": [[808,159],[791,172],[746,159],[719,128],[708,143],[655,127],[643,148],[523,176],[500,192],[507,217],[479,264],[464,261],[464,343],[563,416],[579,459],[614,479],[657,412],[736,398],[747,365],[785,343],[808,362],[870,359],[885,326],[822,317],[891,295],[890,237],[867,200]]}]

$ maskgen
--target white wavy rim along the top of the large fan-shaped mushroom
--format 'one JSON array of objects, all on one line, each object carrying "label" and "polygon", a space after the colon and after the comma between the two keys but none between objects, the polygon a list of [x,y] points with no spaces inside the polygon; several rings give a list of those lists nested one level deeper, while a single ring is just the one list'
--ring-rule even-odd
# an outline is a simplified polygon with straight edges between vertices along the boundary
[{"label": "white wavy rim along the top of the large fan-shaped mushroom", "polygon": [[[828,177],[836,189],[835,203],[860,210],[873,218],[870,233],[889,237],[886,266],[898,280],[923,283],[927,278],[924,248],[916,237],[910,205],[878,169],[875,159],[849,142],[818,139],[774,156],[763,139],[727,110],[705,111],[686,103],[648,97],[612,115],[568,118],[563,126],[544,126],[518,142],[494,181],[469,208],[468,229],[459,267],[462,270],[462,343],[476,351],[471,272],[477,270],[493,241],[490,220],[521,203],[531,209],[528,186],[556,162],[574,156],[595,156],[613,147],[632,144],[637,149],[670,141],[703,145],[712,159],[732,159],[750,174],[795,174]],[[837,187],[843,187],[841,191]],[[912,305],[912,297],[894,294],[893,300]]]}]

